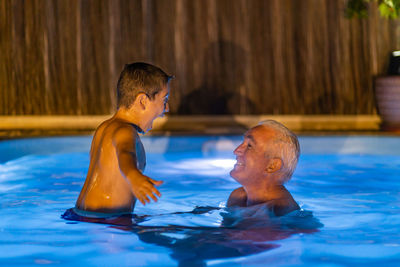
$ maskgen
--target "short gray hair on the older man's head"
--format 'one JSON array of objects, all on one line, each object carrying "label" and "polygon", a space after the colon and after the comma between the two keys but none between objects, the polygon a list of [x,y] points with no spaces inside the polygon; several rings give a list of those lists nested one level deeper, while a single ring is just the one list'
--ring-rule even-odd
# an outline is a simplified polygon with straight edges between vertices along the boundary
[{"label": "short gray hair on the older man's head", "polygon": [[274,120],[261,121],[258,125],[275,131],[276,138],[273,143],[277,145],[276,156],[279,156],[283,161],[283,182],[287,182],[292,177],[300,156],[300,145],[297,136],[283,124]]}]

